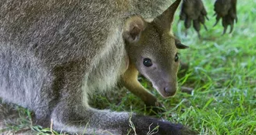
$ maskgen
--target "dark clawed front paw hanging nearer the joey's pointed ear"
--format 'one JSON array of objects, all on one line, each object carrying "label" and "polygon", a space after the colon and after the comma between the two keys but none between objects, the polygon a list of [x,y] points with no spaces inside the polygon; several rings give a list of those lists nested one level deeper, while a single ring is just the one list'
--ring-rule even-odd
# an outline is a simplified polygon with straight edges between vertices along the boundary
[{"label": "dark clawed front paw hanging nearer the joey's pointed ear", "polygon": [[201,24],[203,24],[205,30],[207,30],[207,27],[204,24],[205,18],[208,20],[207,12],[201,0],[183,1],[181,5],[180,20],[185,21],[184,24],[186,29],[190,28],[191,22],[193,21],[194,30],[197,30],[197,34],[200,37],[199,31],[201,29]]}]

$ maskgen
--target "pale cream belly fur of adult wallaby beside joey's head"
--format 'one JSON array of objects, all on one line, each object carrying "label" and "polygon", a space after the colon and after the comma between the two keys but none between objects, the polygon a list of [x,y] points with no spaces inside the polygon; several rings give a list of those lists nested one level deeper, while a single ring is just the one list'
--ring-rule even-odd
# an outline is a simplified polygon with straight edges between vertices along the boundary
[{"label": "pale cream belly fur of adult wallaby beside joey's head", "polygon": [[126,50],[119,28],[109,33],[106,48],[94,61],[94,66],[88,76],[87,87],[93,91],[106,91],[112,89],[119,80],[123,69],[126,68]]}]

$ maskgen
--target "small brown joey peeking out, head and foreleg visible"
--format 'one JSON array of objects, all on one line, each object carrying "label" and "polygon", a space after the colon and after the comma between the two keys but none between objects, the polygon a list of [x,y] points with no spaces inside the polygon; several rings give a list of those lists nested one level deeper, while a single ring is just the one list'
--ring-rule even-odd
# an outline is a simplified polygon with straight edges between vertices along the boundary
[{"label": "small brown joey peeking out, head and foreleg visible", "polygon": [[[138,82],[139,72],[151,80],[164,98],[176,93],[176,77],[180,63],[177,48],[188,47],[170,34],[175,10],[166,10],[151,23],[147,23],[141,16],[133,16],[126,21],[123,35],[129,55],[129,67],[122,76],[122,82],[147,106],[162,105]],[[168,16],[169,20],[162,21],[163,16]]]}]

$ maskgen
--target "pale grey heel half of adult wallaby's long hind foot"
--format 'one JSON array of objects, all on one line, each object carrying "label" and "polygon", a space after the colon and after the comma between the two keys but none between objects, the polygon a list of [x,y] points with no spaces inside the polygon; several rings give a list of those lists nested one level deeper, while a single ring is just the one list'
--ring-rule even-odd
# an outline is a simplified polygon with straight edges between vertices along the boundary
[{"label": "pale grey heel half of adult wallaby's long hind foot", "polygon": [[52,121],[55,130],[69,133],[126,134],[130,129],[128,112],[97,110],[75,101],[60,102],[52,113]]}]

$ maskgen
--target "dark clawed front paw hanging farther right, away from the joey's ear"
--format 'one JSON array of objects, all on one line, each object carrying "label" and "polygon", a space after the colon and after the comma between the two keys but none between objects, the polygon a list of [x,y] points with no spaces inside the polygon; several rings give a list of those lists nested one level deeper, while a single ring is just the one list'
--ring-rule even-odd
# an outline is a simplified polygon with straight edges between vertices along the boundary
[{"label": "dark clawed front paw hanging farther right, away from the joey's ear", "polygon": [[237,22],[236,0],[216,0],[214,10],[216,16],[215,25],[222,19],[222,26],[224,27],[222,34],[226,33],[228,26],[230,26],[229,33],[231,33],[233,31],[234,22]]}]

